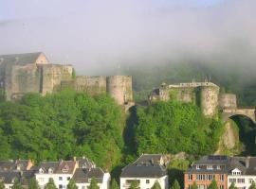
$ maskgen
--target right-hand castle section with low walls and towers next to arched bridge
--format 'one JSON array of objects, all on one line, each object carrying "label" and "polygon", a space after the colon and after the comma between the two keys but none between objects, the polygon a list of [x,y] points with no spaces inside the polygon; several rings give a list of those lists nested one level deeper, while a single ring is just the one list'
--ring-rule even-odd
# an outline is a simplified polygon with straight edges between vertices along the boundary
[{"label": "right-hand castle section with low walls and towers next to arched bridge", "polygon": [[[235,94],[221,94],[220,88],[212,82],[190,82],[167,85],[163,83],[152,91],[149,100],[177,100],[192,102],[201,108],[206,116],[213,116],[219,110],[237,111]],[[235,113],[235,112],[234,112]]]}]

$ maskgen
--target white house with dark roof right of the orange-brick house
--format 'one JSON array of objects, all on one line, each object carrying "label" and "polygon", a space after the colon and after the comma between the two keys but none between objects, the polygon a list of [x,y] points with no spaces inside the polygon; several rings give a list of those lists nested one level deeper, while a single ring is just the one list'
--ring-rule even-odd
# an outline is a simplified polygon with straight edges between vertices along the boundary
[{"label": "white house with dark roof right of the orange-brick house", "polygon": [[233,182],[239,189],[256,183],[256,157],[233,157],[229,163],[228,188]]}]

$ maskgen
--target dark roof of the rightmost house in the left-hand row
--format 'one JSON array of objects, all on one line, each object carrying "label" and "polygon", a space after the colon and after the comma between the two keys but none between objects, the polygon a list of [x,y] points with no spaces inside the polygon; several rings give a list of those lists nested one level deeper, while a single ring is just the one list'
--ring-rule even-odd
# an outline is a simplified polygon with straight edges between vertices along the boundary
[{"label": "dark roof of the rightmost house in the left-hand row", "polygon": [[101,168],[77,168],[72,179],[77,183],[88,183],[89,179],[94,178],[98,183],[101,183],[103,176],[104,172]]}]

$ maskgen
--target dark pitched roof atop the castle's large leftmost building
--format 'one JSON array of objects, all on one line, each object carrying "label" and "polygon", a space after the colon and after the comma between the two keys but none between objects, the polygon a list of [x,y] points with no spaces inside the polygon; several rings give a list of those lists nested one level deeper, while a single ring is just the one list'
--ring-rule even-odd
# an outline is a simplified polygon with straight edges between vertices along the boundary
[{"label": "dark pitched roof atop the castle's large leftmost building", "polygon": [[25,65],[35,63],[42,52],[36,53],[25,53],[25,54],[11,54],[11,55],[0,55],[0,64],[19,64]]}]

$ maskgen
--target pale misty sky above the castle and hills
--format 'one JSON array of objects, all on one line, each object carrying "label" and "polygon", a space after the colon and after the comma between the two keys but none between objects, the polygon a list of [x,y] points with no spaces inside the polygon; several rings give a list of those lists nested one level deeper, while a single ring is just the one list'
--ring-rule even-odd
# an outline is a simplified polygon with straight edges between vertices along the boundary
[{"label": "pale misty sky above the castle and hills", "polygon": [[255,0],[0,0],[0,54],[43,51],[80,74],[184,57],[255,64]]}]

